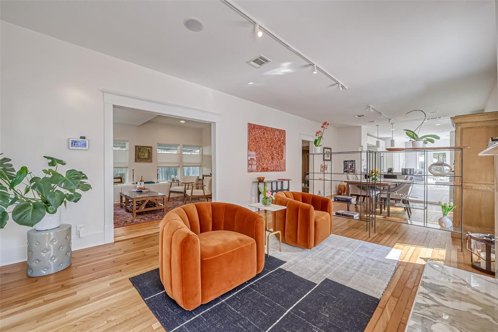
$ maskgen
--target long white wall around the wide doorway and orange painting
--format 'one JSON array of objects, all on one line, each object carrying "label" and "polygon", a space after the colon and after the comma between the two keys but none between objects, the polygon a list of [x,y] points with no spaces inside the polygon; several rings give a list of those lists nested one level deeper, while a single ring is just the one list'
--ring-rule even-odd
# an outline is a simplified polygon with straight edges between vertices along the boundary
[{"label": "long white wall around the wide doorway and orange painting", "polygon": [[[46,167],[43,155],[61,158],[93,186],[62,214],[73,225],[73,249],[105,242],[103,89],[219,113],[220,201],[251,203],[251,182],[259,175],[292,178],[291,190],[301,190],[299,134],[313,135],[316,122],[3,21],[1,42],[2,152],[15,167],[27,165],[36,174]],[[286,130],[286,171],[248,173],[248,122]],[[68,150],[67,139],[79,136],[90,140],[90,149]],[[84,238],[76,236],[77,224],[85,225]],[[27,230],[12,220],[0,230],[1,265],[25,260]]]}]

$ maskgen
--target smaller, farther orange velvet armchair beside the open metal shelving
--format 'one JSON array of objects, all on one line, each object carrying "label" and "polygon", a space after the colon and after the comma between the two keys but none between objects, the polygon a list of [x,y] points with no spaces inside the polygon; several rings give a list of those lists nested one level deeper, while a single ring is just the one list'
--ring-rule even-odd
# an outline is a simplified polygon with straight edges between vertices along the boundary
[{"label": "smaller, farther orange velvet armchair beside the open metal shelving", "polygon": [[286,206],[273,212],[273,230],[282,241],[304,249],[316,247],[332,232],[332,200],[305,192],[280,191],[273,202]]}]

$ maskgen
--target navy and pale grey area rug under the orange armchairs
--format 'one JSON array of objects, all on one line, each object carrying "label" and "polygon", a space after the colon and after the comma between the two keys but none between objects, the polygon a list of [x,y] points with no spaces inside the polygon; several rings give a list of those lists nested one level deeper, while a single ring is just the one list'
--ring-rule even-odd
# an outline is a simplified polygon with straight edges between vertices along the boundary
[{"label": "navy and pale grey area rug under the orange armchairs", "polygon": [[164,292],[159,269],[130,278],[168,332],[364,331],[401,250],[330,235],[311,250],[270,243],[264,269],[192,311]]}]

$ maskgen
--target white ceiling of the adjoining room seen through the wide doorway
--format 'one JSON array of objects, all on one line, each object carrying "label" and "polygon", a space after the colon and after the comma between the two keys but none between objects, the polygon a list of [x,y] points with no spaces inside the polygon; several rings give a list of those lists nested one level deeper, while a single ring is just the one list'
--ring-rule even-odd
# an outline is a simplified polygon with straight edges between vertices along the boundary
[{"label": "white ceiling of the adjoining room seen through the wide doorway", "polygon": [[115,106],[113,109],[113,123],[128,125],[128,126],[140,126],[147,122],[159,122],[163,124],[186,127],[186,128],[198,128],[198,129],[211,128],[211,124],[209,123],[166,117],[163,115],[157,115],[156,113],[136,110],[133,108]]}]

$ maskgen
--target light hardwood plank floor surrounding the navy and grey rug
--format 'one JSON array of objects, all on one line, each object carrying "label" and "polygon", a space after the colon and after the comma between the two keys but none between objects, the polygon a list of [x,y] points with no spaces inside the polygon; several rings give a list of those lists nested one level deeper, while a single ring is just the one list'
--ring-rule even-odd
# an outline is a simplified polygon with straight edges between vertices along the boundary
[{"label": "light hardwood plank floor surrounding the navy and grey rug", "polygon": [[[158,267],[157,227],[121,229],[123,240],[75,251],[54,275],[29,278],[25,263],[1,267],[0,330],[164,331],[128,280]],[[479,273],[445,231],[380,221],[369,238],[364,222],[335,217],[333,233],[403,251],[366,331],[404,331],[427,259]]]}]

